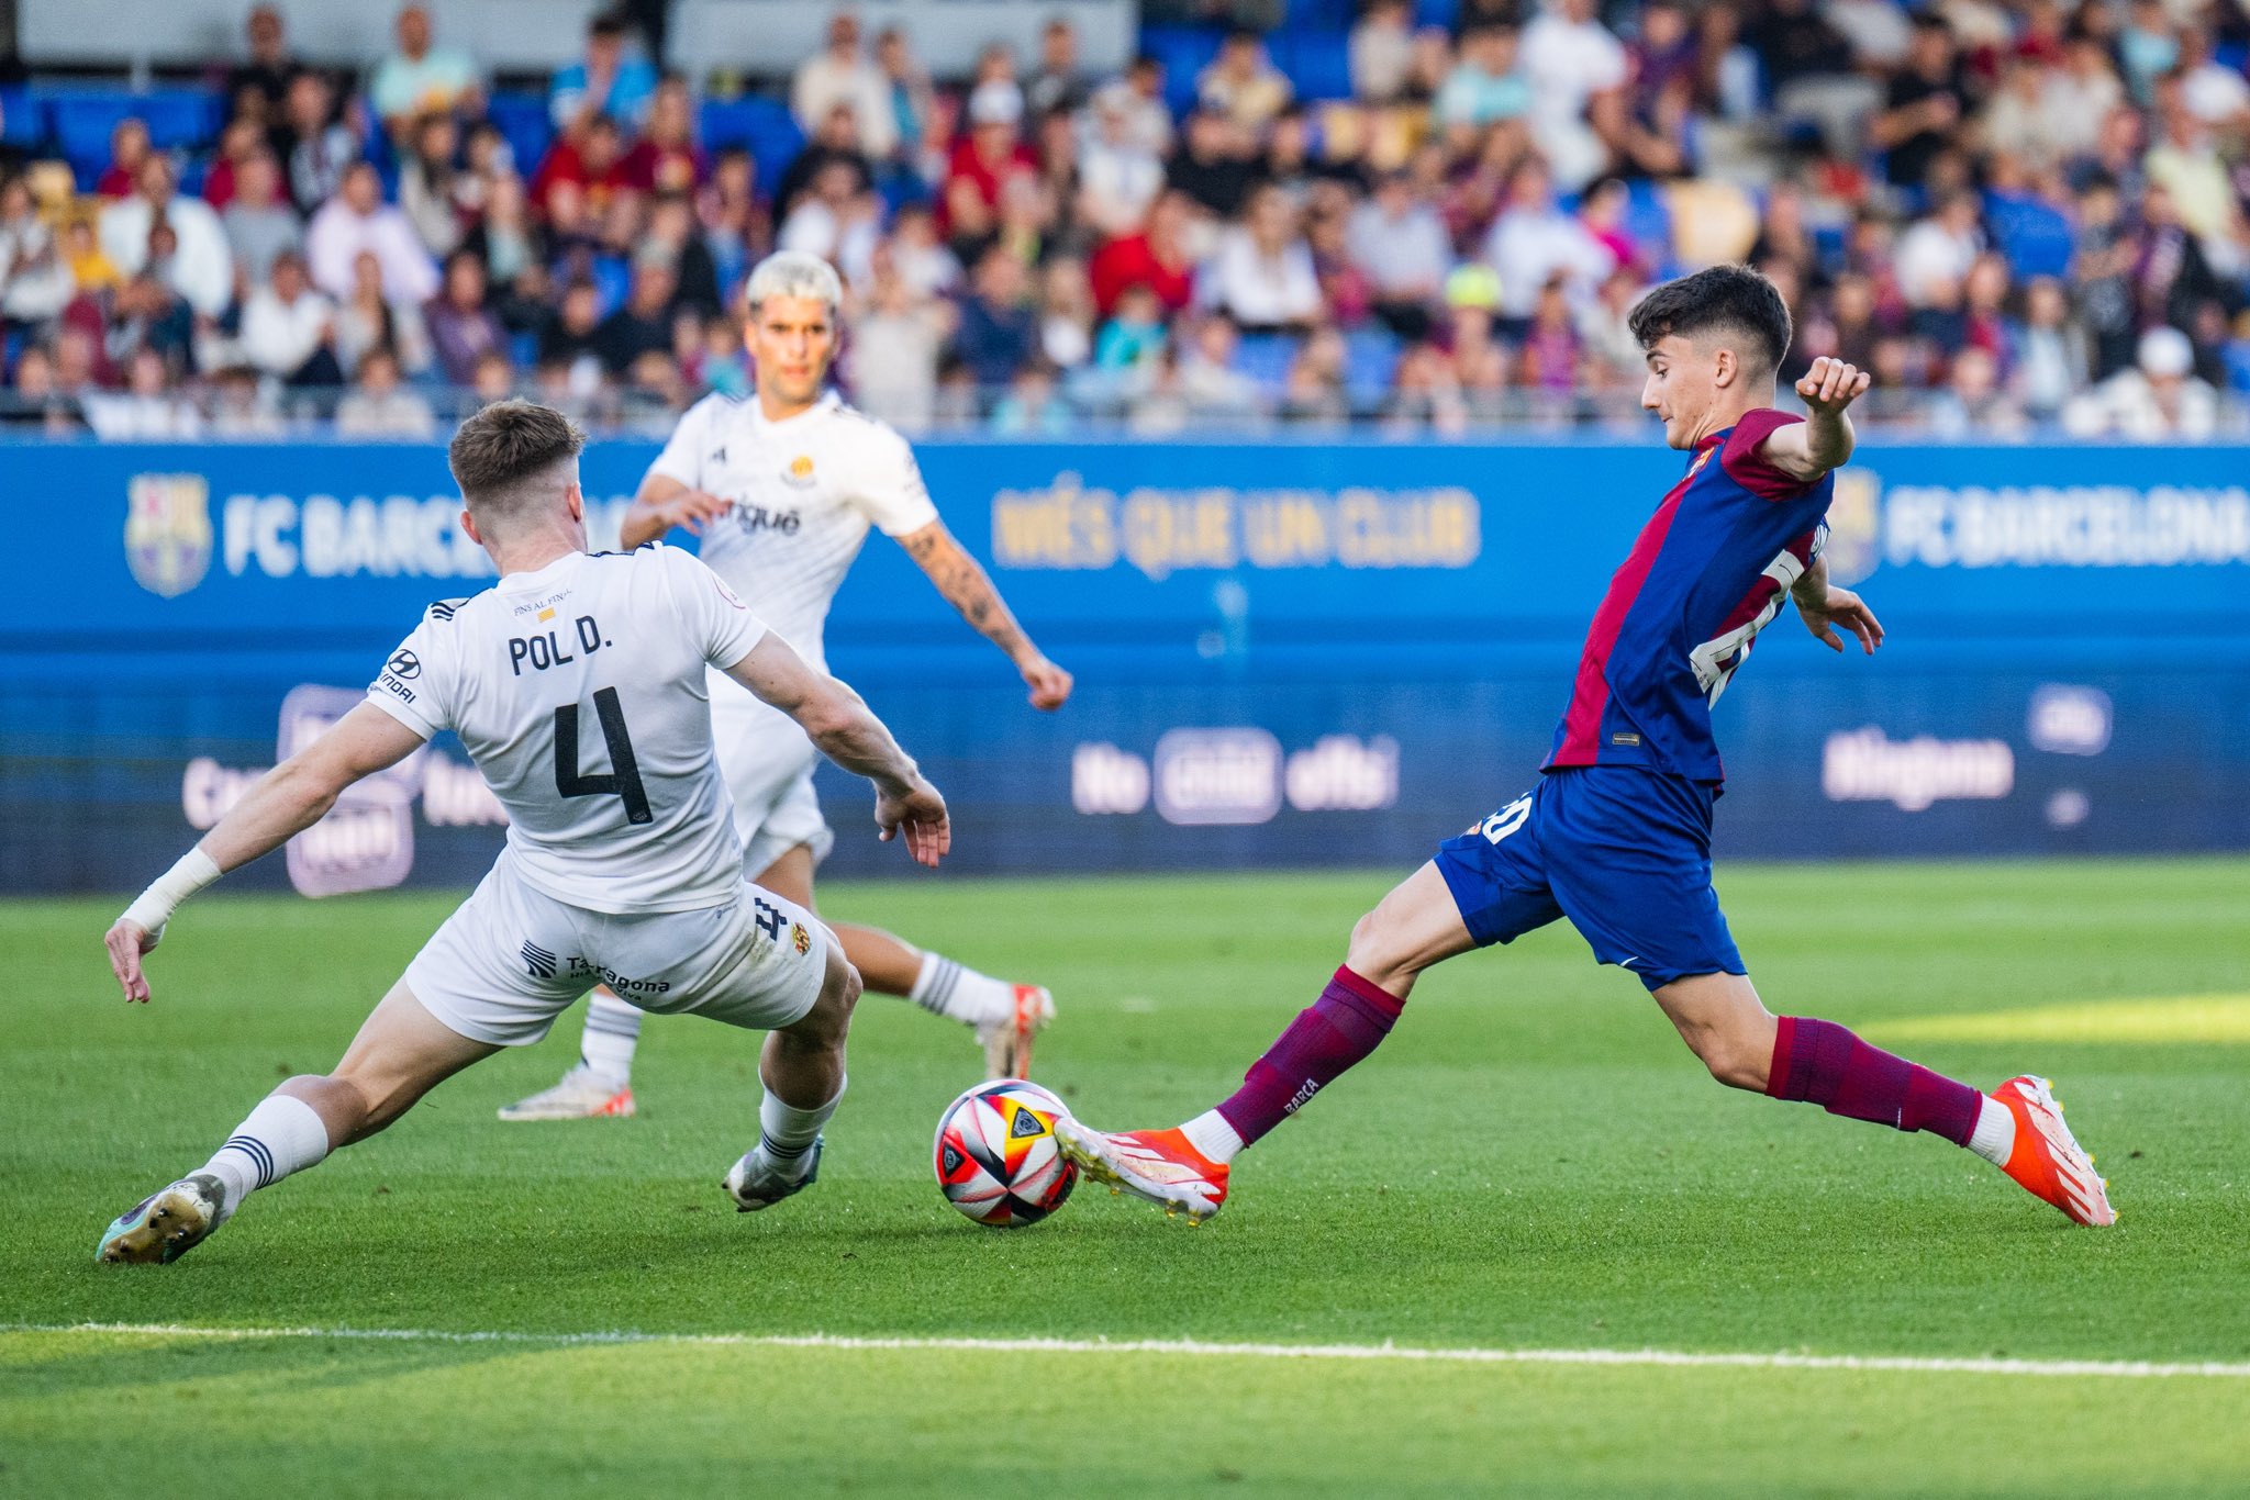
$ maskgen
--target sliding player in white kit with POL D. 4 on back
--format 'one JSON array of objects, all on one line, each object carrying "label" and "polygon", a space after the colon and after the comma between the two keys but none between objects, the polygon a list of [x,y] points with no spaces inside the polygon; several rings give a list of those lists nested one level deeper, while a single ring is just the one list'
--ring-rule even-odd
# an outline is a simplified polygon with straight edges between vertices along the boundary
[{"label": "sliding player in white kit with POL D. 4 on back", "polygon": [[945,803],[866,704],[709,567],[662,544],[587,553],[583,443],[569,418],[522,400],[461,423],[448,454],[468,504],[461,528],[500,582],[432,605],[367,702],[268,771],[110,927],[117,983],[126,1001],[146,1001],[142,956],[182,900],[443,729],[508,812],[484,884],[335,1070],[274,1088],[209,1163],[119,1214],[99,1259],[180,1257],[250,1192],[374,1136],[472,1061],[538,1041],[592,983],[664,1014],[765,1030],[758,1145],[724,1187],[756,1210],[812,1183],[821,1127],[844,1095],[860,976],[819,918],[742,879],[709,672],[871,778],[878,830],[902,834],[925,866],[952,843]]}]

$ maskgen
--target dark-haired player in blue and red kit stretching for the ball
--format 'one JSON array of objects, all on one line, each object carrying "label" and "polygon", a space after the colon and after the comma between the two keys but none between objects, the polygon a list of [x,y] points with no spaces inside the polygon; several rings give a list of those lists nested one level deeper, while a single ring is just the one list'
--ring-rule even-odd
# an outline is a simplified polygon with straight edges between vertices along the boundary
[{"label": "dark-haired player in blue and red kit stretching for the ball", "polygon": [[1820,558],[1845,409],[1868,376],[1816,360],[1807,416],[1773,409],[1789,308],[1755,270],[1714,265],[1649,292],[1640,405],[1688,472],[1609,580],[1539,785],[1449,839],[1359,920],[1346,963],[1251,1064],[1242,1088],[1166,1131],[1055,1127],[1098,1181],[1190,1223],[1220,1212],[1228,1165],[1375,1050],[1422,969],[1566,918],[1600,963],[1631,969],[1681,1039],[1735,1088],[1832,1115],[1935,1131],[2077,1223],[2113,1223],[2106,1183],[2041,1077],[1980,1093],[1834,1021],[1771,1014],[1710,886],[1724,771],[1710,711],[1784,603],[1825,645],[1872,654],[1883,627]]}]

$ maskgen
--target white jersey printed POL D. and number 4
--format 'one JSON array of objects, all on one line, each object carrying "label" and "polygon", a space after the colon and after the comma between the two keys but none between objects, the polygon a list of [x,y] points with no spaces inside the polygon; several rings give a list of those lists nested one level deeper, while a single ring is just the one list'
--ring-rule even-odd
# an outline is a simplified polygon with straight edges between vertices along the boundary
[{"label": "white jersey printed POL D. and number 4", "polygon": [[367,697],[423,738],[461,735],[533,888],[587,911],[693,911],[742,882],[706,670],[763,636],[675,546],[572,553],[430,605]]}]

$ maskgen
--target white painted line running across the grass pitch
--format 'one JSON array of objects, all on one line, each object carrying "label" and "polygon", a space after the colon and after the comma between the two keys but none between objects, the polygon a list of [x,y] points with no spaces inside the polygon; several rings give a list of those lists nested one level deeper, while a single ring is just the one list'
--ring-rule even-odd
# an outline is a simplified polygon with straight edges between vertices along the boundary
[{"label": "white painted line running across the grass pitch", "polygon": [[1188,1354],[1204,1358],[1411,1361],[1444,1365],[1670,1365],[1685,1370],[1876,1370],[2099,1379],[2250,1379],[2250,1363],[2108,1358],[1922,1358],[1908,1354],[1696,1354],[1685,1349],[1444,1349],[1418,1345],[1256,1345],[1199,1338],[880,1338],[853,1334],[526,1334],[513,1329],[223,1329],[180,1322],[0,1322],[0,1334],[135,1334],[155,1338],[356,1338],[448,1345],[698,1345],[740,1349],[956,1349],[974,1354]]}]

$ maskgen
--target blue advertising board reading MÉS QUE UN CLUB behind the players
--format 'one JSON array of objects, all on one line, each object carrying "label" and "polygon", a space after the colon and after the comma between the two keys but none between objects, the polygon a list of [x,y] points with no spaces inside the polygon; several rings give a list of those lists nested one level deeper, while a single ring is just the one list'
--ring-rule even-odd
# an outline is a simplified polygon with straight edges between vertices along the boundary
[{"label": "blue advertising board reading M\u00c9S QUE UN CLUB behind the players", "polygon": [[[932,441],[947,524],[1078,693],[1024,704],[868,542],[830,666],[950,794],[954,866],[1404,868],[1521,792],[1658,443]],[[596,540],[655,445],[585,457]],[[1829,558],[1868,661],[1778,621],[1717,708],[1719,852],[2250,848],[2250,450],[1870,443]],[[140,886],[490,564],[432,445],[0,448],[0,888]],[[754,603],[754,600],[752,600]],[[338,693],[310,693],[338,688]],[[306,690],[306,693],[299,693]],[[292,697],[292,693],[297,697]],[[844,873],[904,873],[824,776]],[[252,879],[466,884],[457,744]]]}]

